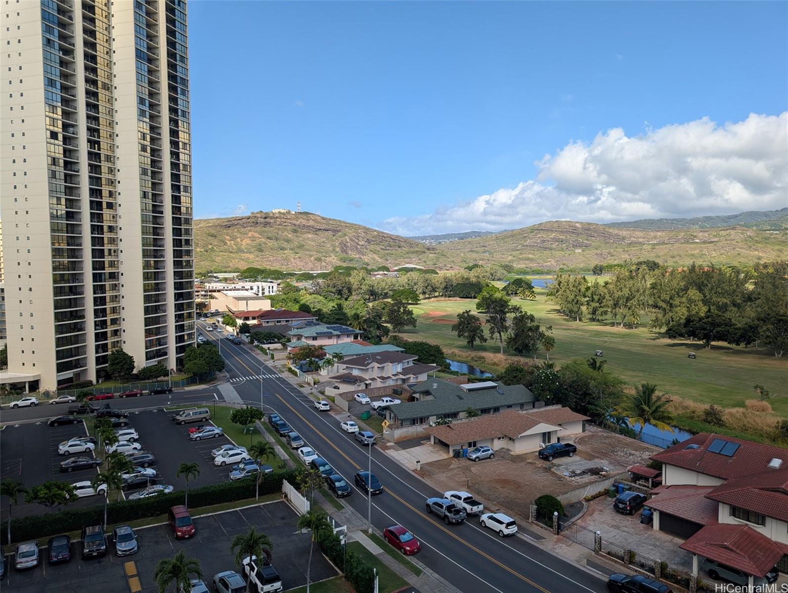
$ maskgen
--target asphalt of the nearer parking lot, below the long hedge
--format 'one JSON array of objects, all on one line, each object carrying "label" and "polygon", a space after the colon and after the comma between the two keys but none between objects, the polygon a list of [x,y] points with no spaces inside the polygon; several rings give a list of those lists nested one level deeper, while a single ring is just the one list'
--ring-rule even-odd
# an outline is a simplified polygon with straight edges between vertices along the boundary
[{"label": "asphalt of the nearer parking lot, below the long hedge", "polygon": [[[156,563],[162,558],[172,558],[184,551],[189,558],[197,558],[203,569],[203,578],[211,587],[212,576],[225,570],[238,570],[233,565],[230,551],[232,538],[246,533],[254,526],[273,541],[273,566],[281,576],[285,589],[307,584],[310,533],[296,531],[298,515],[286,502],[270,502],[247,509],[197,517],[194,539],[176,540],[166,525],[137,530],[139,551],[132,556],[117,558],[107,554],[104,558],[83,561],[80,544],[72,544],[72,560],[63,565],[39,565],[29,571],[9,570],[3,591],[40,593],[41,591],[101,591],[102,593],[128,593],[125,564],[133,563],[139,575],[143,593],[158,591],[153,580]],[[9,559],[10,560],[10,559]],[[11,562],[13,564],[13,561]],[[311,579],[313,581],[336,576],[336,570],[320,551],[312,555]]]}]

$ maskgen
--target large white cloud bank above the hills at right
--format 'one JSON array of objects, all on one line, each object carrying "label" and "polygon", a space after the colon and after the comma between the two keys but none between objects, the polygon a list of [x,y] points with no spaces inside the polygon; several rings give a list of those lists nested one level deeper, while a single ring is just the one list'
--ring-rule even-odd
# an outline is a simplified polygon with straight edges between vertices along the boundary
[{"label": "large white cloud bank above the hills at right", "polygon": [[591,143],[571,142],[545,154],[536,165],[536,180],[430,214],[389,218],[381,226],[421,235],[548,220],[612,222],[782,208],[788,204],[788,112],[752,113],[723,125],[704,117],[633,137],[611,128]]}]

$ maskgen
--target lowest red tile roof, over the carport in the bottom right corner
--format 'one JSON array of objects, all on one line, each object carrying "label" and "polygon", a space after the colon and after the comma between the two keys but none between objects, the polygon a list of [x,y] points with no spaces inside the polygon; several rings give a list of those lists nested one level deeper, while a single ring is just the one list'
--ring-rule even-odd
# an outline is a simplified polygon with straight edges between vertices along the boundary
[{"label": "lowest red tile roof, over the carport in the bottom right corner", "polygon": [[679,547],[755,576],[765,576],[782,558],[782,548],[749,525],[707,525]]}]

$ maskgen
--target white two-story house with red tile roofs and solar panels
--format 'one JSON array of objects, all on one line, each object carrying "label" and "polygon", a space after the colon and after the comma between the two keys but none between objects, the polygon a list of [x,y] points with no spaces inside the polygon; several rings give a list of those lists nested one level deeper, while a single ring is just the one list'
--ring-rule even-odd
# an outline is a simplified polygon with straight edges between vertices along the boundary
[{"label": "white two-story house with red tile roofs and solar panels", "polygon": [[653,527],[686,538],[694,574],[699,558],[750,576],[788,572],[788,450],[702,432],[652,459],[663,475]]}]

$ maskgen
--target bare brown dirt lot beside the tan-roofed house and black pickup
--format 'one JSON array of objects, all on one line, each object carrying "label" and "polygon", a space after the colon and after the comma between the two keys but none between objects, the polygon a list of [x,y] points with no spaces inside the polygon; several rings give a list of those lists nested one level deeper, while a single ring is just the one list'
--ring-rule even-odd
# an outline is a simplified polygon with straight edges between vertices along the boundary
[{"label": "bare brown dirt lot beside the tan-roofed house and black pickup", "polygon": [[[564,439],[567,443],[572,440]],[[574,443],[578,446],[574,458],[557,458],[552,464],[536,453],[512,455],[497,450],[492,460],[441,459],[423,464],[419,473],[439,490],[467,490],[489,510],[528,517],[530,503],[538,496],[578,491],[577,498],[582,498],[599,491],[610,476],[660,450],[595,427],[577,435]]]}]

